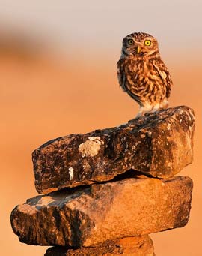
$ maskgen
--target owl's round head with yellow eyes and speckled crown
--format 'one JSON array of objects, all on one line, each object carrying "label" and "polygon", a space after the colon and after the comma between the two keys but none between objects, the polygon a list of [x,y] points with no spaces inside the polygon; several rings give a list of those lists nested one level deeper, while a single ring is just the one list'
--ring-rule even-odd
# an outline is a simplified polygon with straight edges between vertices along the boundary
[{"label": "owl's round head with yellow eyes and speckled crown", "polygon": [[122,56],[150,56],[159,53],[158,42],[152,35],[135,32],[123,38]]}]

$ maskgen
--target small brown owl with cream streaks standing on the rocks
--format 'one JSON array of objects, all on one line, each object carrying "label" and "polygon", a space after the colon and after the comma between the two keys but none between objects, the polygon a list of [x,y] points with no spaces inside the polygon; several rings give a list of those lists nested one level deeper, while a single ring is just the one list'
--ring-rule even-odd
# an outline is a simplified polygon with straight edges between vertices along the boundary
[{"label": "small brown owl with cream streaks standing on the rocks", "polygon": [[152,35],[135,32],[123,38],[117,75],[123,91],[138,102],[138,116],[168,107],[173,83]]}]

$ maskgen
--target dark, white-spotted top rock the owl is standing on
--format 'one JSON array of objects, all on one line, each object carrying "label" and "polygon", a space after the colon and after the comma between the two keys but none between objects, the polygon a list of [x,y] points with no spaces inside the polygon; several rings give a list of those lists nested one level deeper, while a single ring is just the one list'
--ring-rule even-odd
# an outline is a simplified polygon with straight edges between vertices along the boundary
[{"label": "dark, white-spotted top rock the owl is standing on", "polygon": [[171,107],[126,125],[71,134],[33,152],[41,194],[113,179],[127,170],[168,178],[193,158],[195,118],[189,107]]}]

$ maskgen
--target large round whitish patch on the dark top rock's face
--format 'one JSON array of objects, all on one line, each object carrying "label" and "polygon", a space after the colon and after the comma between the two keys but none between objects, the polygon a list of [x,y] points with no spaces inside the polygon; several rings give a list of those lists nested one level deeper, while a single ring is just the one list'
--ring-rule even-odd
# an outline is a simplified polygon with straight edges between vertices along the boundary
[{"label": "large round whitish patch on the dark top rock's face", "polygon": [[97,155],[102,144],[104,143],[100,137],[88,137],[85,143],[79,145],[79,152],[82,153],[82,158]]}]

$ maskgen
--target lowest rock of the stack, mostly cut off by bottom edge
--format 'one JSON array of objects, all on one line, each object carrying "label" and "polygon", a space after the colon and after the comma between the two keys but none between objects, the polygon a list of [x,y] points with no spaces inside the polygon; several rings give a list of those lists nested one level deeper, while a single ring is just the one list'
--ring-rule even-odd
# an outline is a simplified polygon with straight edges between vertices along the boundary
[{"label": "lowest rock of the stack, mostly cut off by bottom edge", "polygon": [[52,247],[44,256],[155,256],[150,236],[126,237],[106,241],[94,248],[70,249]]}]

